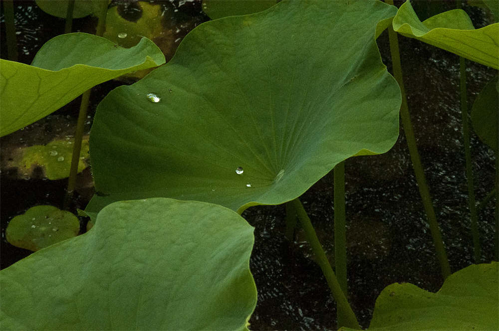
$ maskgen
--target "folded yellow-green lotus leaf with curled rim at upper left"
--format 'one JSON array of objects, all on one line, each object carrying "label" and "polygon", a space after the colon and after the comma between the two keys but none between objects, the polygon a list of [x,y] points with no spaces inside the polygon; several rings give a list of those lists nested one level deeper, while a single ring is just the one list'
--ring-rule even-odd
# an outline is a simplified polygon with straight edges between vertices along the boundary
[{"label": "folded yellow-green lotus leaf with curled rim at upper left", "polygon": [[147,38],[125,49],[87,33],[50,39],[32,65],[0,60],[0,135],[43,118],[92,86],[163,63],[163,53]]}]

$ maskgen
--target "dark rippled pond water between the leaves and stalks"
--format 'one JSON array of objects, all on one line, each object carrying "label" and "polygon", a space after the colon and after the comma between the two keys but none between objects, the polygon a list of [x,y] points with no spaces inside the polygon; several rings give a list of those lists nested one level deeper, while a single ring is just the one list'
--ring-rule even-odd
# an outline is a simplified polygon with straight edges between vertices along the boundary
[{"label": "dark rippled pond water between the leaves and stalks", "polygon": [[[168,3],[169,4],[168,4]],[[30,63],[37,49],[62,33],[63,22],[43,13],[32,1],[14,1],[19,33],[19,61]],[[165,1],[181,11],[184,33],[206,19],[199,2]],[[183,4],[183,5],[181,5]],[[437,9],[452,9],[452,2]],[[419,4],[424,10],[434,7]],[[182,9],[184,8],[184,9]],[[420,8],[420,10],[423,10]],[[464,7],[476,27],[488,24],[476,7]],[[176,12],[178,12],[176,11]],[[175,12],[175,11],[173,11]],[[425,12],[421,13],[422,15]],[[195,18],[186,18],[191,15]],[[180,24],[180,23],[179,23]],[[92,18],[77,19],[73,31],[94,28]],[[3,31],[3,23],[1,30]],[[5,49],[4,35],[1,47]],[[419,151],[433,195],[438,221],[453,271],[473,263],[473,244],[467,201],[461,114],[459,110],[459,58],[415,39],[399,37],[409,109]],[[391,70],[387,33],[378,45]],[[3,54],[2,54],[3,57]],[[497,71],[467,61],[468,99],[476,95]],[[92,91],[90,129],[97,103],[119,82],[101,84]],[[55,136],[72,135],[79,100],[1,138],[2,158],[12,146],[43,144]],[[472,159],[477,200],[492,190],[495,174],[493,152],[472,134]],[[396,145],[379,156],[346,162],[346,213],[349,299],[361,325],[367,327],[376,297],[394,282],[410,282],[429,291],[442,285],[440,268],[426,223],[403,129]],[[21,176],[22,177],[22,176]],[[79,196],[71,208],[84,208],[93,193],[89,170],[80,176]],[[60,205],[66,180],[23,179],[15,169],[1,169],[1,268],[30,252],[4,240],[8,220],[35,204]],[[301,200],[333,263],[333,176],[324,176]],[[258,289],[258,303],[251,330],[334,330],[336,305],[322,272],[298,228],[295,239],[284,237],[283,206],[251,207],[243,216],[255,227],[250,267]],[[493,259],[494,200],[479,210],[483,262]]]}]

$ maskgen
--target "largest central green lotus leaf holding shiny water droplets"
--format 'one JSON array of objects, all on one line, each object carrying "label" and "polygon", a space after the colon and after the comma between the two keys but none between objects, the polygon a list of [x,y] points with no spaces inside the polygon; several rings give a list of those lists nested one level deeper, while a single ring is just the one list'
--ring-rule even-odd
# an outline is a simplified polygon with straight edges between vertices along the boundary
[{"label": "largest central green lotus leaf holding shiny water droplets", "polygon": [[103,194],[86,210],[164,196],[241,212],[296,198],[353,155],[388,151],[401,98],[374,34],[394,10],[282,1],[201,24],[167,65],[99,104],[90,155]]}]

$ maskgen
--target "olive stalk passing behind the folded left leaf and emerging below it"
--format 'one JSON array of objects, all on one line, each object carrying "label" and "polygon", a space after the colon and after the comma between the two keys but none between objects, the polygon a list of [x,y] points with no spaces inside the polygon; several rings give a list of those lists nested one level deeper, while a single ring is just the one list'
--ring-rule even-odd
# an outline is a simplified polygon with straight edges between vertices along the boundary
[{"label": "olive stalk passing behind the folded left leaf and emerging below it", "polygon": [[[98,36],[102,36],[104,34],[106,16],[107,16],[107,3],[108,3],[107,0],[100,1],[100,11],[98,13],[99,21],[97,23],[97,32],[96,32],[96,35]],[[76,175],[78,173],[78,163],[80,160],[81,141],[83,140],[83,129],[87,117],[89,100],[90,100],[90,89],[86,90],[81,96],[80,112],[78,114],[78,123],[76,124],[76,131],[74,134],[71,168],[69,169],[67,189],[66,189],[66,194],[64,196],[64,203],[63,203],[64,208],[67,208],[69,206],[69,201],[71,201],[71,198],[73,196],[73,191],[76,186]]]}]

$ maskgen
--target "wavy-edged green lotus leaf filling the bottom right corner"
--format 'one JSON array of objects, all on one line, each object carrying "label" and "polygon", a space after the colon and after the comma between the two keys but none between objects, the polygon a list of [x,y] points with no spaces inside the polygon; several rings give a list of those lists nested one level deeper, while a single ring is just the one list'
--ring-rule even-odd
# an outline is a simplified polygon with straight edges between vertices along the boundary
[{"label": "wavy-edged green lotus leaf filling the bottom right corner", "polygon": [[493,262],[452,274],[437,293],[409,283],[388,285],[376,299],[368,330],[498,330],[498,279],[498,263]]}]

